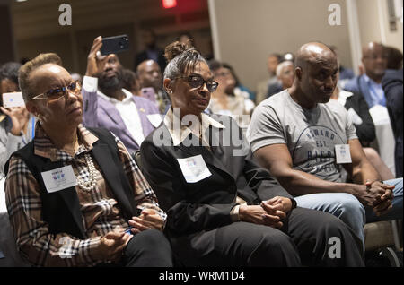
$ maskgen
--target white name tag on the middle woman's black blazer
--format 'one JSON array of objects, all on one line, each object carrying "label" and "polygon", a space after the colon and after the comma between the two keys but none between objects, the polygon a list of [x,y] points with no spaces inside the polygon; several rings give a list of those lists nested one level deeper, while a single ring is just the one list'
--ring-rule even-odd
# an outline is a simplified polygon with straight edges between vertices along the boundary
[{"label": "white name tag on the middle woman's black blazer", "polygon": [[206,177],[210,177],[209,169],[206,167],[202,155],[191,156],[187,159],[177,159],[180,164],[182,175],[188,183],[196,183]]}]

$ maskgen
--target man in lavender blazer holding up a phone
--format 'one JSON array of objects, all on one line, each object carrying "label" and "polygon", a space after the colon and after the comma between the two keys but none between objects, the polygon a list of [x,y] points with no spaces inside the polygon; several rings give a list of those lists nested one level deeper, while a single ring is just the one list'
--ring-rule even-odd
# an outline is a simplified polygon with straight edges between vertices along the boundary
[{"label": "man in lavender blazer holding up a phone", "polygon": [[139,149],[156,121],[158,108],[148,99],[122,88],[122,65],[118,56],[97,56],[102,38],[94,39],[83,80],[83,124],[105,127],[125,144],[130,153]]}]

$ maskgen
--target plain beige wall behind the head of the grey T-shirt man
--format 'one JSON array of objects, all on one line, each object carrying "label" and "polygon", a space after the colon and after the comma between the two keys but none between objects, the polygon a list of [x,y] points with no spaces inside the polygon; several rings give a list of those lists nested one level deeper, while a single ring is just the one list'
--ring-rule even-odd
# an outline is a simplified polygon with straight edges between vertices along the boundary
[{"label": "plain beige wall behind the head of the grey T-shirt man", "polygon": [[[328,22],[333,3],[341,7],[340,26]],[[212,14],[216,16],[221,59],[252,90],[267,77],[268,54],[294,53],[309,41],[336,46],[342,65],[351,66],[344,0],[213,0],[209,5],[212,29]]]}]

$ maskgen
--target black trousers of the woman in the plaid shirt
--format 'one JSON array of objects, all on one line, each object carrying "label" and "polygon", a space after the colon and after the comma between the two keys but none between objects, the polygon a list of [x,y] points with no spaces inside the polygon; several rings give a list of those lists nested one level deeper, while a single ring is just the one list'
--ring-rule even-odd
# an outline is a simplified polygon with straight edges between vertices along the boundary
[{"label": "black trousers of the woman in the plaid shirt", "polygon": [[170,242],[156,229],[147,229],[130,239],[122,265],[127,267],[172,267]]}]

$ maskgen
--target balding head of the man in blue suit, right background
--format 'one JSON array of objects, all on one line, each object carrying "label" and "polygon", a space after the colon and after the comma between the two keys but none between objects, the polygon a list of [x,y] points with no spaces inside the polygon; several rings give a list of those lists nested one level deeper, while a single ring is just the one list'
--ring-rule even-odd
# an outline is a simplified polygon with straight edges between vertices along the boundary
[{"label": "balding head of the man in blue suit, right background", "polygon": [[381,43],[368,43],[362,48],[362,63],[366,75],[381,82],[387,68],[387,49]]}]

